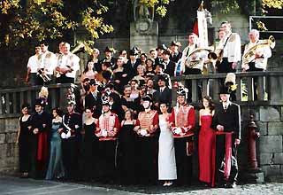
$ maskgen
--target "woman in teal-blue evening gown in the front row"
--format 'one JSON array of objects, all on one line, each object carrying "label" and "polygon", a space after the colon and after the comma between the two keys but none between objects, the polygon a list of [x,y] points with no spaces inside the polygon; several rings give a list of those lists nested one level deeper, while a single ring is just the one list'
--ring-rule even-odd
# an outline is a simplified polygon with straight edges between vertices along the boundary
[{"label": "woman in teal-blue evening gown in the front row", "polygon": [[52,109],[52,129],[50,132],[50,160],[45,179],[59,179],[65,176],[63,166],[61,136],[63,123],[62,112],[59,108]]}]

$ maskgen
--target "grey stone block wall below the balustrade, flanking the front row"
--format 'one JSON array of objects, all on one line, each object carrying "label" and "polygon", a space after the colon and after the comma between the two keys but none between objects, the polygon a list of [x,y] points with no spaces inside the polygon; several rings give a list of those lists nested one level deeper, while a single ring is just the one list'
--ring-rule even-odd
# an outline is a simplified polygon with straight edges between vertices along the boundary
[{"label": "grey stone block wall below the balustrade, flanking the front row", "polygon": [[[264,176],[283,175],[283,105],[241,105],[241,145],[238,149],[240,179],[244,180],[241,173],[249,169],[247,126],[250,113],[255,115],[256,125],[261,134],[256,141],[256,153]],[[15,144],[17,128],[17,117],[0,119],[0,172],[18,169],[18,146]],[[197,179],[197,151],[194,159],[194,177]]]}]

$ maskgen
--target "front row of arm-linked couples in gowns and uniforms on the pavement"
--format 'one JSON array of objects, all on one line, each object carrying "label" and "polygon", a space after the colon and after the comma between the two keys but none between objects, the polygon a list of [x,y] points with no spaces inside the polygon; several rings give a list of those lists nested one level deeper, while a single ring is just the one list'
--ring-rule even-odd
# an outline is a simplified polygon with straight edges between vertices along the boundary
[{"label": "front row of arm-linked couples in gowns and uniforms on the pavement", "polygon": [[[142,111],[126,109],[124,118],[112,110],[111,94],[101,98],[101,113],[86,107],[84,119],[75,113],[75,102],[45,111],[44,99],[22,106],[19,119],[19,165],[23,177],[85,179],[125,184],[189,185],[195,151],[195,108],[187,104],[187,90],[179,86],[177,105],[167,102],[153,109],[150,95],[142,97]],[[235,185],[238,173],[235,150],[241,140],[240,107],[229,101],[229,90],[220,91],[221,104],[203,98],[199,111],[199,179],[209,186]],[[196,138],[196,137],[195,137]],[[223,165],[224,164],[224,165]],[[196,167],[196,166],[195,166]]]}]

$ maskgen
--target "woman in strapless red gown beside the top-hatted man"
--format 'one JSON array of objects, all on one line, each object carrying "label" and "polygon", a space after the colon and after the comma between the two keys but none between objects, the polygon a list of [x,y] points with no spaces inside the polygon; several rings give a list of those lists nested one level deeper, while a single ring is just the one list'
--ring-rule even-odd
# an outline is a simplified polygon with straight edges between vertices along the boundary
[{"label": "woman in strapless red gown beside the top-hatted man", "polygon": [[209,96],[203,98],[203,106],[200,110],[200,134],[199,134],[199,179],[207,186],[214,187],[212,183],[214,165],[212,163],[212,145],[215,144],[214,131],[210,129],[212,117],[214,115],[214,105],[212,99]]}]

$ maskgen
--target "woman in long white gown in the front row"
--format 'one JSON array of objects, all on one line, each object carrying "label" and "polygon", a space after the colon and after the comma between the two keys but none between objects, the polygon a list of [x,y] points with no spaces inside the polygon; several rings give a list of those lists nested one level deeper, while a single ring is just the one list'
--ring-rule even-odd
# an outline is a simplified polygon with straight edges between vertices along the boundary
[{"label": "woman in long white gown in the front row", "polygon": [[159,152],[158,152],[158,179],[164,181],[164,186],[172,185],[172,180],[177,179],[174,140],[169,129],[170,113],[167,113],[167,105],[160,104],[159,115]]}]

